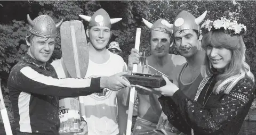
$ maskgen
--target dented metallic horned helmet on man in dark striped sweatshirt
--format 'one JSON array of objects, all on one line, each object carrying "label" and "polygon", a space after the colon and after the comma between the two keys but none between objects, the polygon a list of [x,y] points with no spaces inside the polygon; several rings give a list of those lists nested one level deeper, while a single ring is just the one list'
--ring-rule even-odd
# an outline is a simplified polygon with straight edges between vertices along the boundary
[{"label": "dented metallic horned helmet on man in dark striped sweatshirt", "polygon": [[27,15],[27,20],[30,24],[29,31],[31,33],[47,38],[57,37],[57,28],[60,27],[63,21],[61,19],[60,22],[55,24],[49,15],[39,15],[34,20],[31,20],[29,14]]}]

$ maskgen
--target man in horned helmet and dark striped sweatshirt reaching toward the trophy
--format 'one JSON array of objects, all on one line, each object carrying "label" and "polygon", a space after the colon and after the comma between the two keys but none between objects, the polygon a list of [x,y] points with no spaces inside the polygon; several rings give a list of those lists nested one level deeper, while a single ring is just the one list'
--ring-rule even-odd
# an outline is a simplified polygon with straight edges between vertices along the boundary
[{"label": "man in horned helmet and dark striped sweatshirt reaching toward the trophy", "polygon": [[[31,20],[26,37],[28,52],[14,65],[7,86],[13,107],[16,134],[59,134],[59,97],[85,96],[112,90],[120,77],[93,79],[57,79],[57,74],[49,61],[55,45],[57,28],[49,15],[37,16]],[[125,81],[126,82],[126,81]],[[120,83],[120,82],[119,82]],[[129,82],[126,84],[130,86]],[[110,87],[111,86],[111,87]]]}]

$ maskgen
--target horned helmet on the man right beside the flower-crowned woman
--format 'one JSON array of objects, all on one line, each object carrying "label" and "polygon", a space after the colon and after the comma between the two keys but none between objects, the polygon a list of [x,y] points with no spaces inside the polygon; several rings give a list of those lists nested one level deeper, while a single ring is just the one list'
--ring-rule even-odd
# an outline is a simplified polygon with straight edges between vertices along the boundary
[{"label": "horned helmet on the man right beside the flower-crowned woman", "polygon": [[173,32],[189,29],[200,31],[199,24],[204,20],[206,13],[207,11],[198,18],[195,18],[195,16],[189,12],[181,11],[174,20]]}]

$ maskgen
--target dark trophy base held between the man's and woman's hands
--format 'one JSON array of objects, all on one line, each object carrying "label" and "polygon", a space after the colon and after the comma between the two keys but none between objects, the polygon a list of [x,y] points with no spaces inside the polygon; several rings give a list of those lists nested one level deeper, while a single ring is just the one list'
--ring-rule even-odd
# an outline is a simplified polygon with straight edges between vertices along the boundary
[{"label": "dark trophy base held between the man's and woman's hands", "polygon": [[[140,85],[144,87],[159,88],[166,85],[162,75],[159,74],[147,74],[147,73],[133,73],[133,75],[124,75],[129,80],[131,85]],[[171,82],[172,80],[169,79]]]}]

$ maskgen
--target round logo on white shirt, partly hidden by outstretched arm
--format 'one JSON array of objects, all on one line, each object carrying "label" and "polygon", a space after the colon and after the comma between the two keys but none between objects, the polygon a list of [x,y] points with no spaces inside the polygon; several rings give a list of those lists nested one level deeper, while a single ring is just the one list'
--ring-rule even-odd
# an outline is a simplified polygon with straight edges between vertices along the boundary
[{"label": "round logo on white shirt, partly hidden by outstretched arm", "polygon": [[[99,75],[91,75],[89,78],[97,78],[97,77],[100,77],[100,76]],[[111,90],[105,88],[105,89],[103,89],[102,92],[93,93],[90,96],[97,100],[104,100],[104,99],[107,99],[111,95],[111,93],[112,93]]]}]

